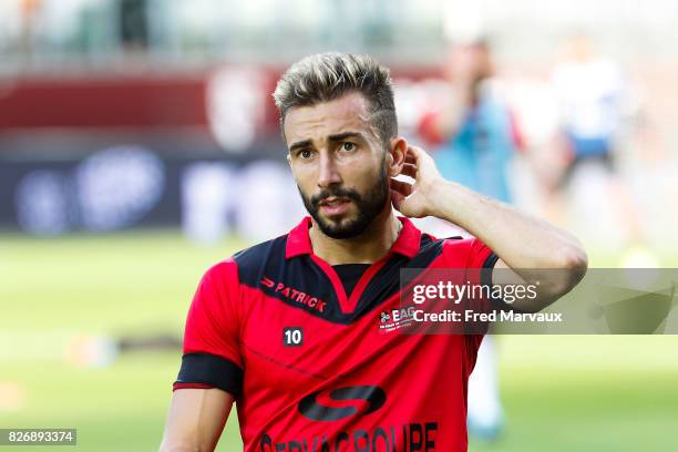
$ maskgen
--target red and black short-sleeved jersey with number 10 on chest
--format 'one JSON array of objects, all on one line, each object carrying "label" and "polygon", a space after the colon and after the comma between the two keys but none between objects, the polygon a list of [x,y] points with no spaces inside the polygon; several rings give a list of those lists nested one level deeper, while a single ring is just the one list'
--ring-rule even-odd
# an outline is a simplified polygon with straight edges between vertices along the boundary
[{"label": "red and black short-sleeved jersey with number 10 on chest", "polygon": [[247,452],[466,451],[466,384],[482,336],[384,332],[403,268],[492,267],[476,238],[409,219],[350,294],[289,234],[212,267],[193,299],[174,389],[234,394]]}]

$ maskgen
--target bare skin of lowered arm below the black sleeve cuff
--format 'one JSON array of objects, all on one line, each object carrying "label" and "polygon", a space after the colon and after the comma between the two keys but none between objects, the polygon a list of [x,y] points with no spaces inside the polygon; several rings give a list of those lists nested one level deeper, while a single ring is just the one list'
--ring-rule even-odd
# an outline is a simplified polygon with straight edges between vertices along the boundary
[{"label": "bare skin of lowered arm below the black sleeve cuff", "polygon": [[220,389],[178,389],[172,396],[161,452],[214,451],[233,407]]}]

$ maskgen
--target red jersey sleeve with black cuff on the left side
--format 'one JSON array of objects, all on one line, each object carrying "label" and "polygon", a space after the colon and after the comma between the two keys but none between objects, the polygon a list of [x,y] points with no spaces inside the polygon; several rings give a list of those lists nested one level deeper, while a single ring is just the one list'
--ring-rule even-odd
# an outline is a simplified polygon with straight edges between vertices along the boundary
[{"label": "red jersey sleeve with black cuff on the left side", "polygon": [[193,297],[182,367],[173,389],[218,388],[237,397],[243,387],[238,271],[234,260],[212,267]]}]

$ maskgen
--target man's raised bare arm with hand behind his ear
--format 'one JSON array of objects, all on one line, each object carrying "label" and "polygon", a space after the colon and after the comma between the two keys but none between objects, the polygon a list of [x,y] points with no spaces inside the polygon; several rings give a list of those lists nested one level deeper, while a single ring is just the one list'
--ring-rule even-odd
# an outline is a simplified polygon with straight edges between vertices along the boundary
[{"label": "man's raised bare arm with hand behind his ear", "polygon": [[[537,311],[567,294],[584,277],[586,253],[572,234],[491,199],[460,184],[445,181],[433,158],[419,147],[409,147],[402,174],[413,177],[410,185],[392,181],[396,208],[413,217],[434,216],[466,229],[497,256],[494,282],[535,282],[541,279],[535,300],[520,300],[517,309]],[[513,269],[499,275],[500,269]],[[549,271],[538,271],[548,269]],[[553,271],[553,270],[557,271]],[[501,280],[499,280],[501,277]]]}]

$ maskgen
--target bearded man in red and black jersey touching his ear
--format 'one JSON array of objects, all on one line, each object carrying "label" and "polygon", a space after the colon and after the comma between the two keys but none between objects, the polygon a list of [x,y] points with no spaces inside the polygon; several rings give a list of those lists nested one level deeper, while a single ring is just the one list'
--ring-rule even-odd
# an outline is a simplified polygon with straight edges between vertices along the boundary
[{"label": "bearded man in red and black jersey touching his ear", "polygon": [[[444,181],[398,136],[389,72],[369,56],[309,56],[274,97],[310,217],[203,277],[161,449],[213,450],[236,401],[246,451],[465,451],[466,381],[482,337],[380,330],[380,315],[399,307],[400,269],[577,270],[516,302],[538,310],[576,284],[584,250]],[[477,238],[422,235],[392,206]]]}]

